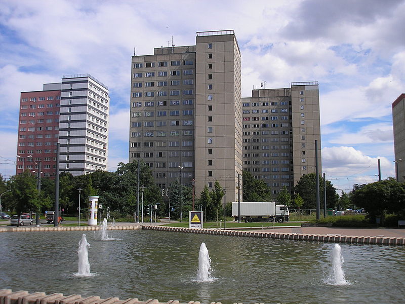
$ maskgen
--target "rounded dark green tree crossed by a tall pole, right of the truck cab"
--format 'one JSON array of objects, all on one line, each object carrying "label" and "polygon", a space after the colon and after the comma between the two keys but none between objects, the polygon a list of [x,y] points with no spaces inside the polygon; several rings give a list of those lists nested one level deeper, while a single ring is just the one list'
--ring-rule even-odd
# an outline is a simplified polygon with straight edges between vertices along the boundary
[{"label": "rounded dark green tree crossed by a tall pole, right of the truck cab", "polygon": [[[304,209],[315,209],[316,208],[316,175],[315,173],[309,173],[301,176],[300,180],[294,187],[294,192],[300,194],[304,200]],[[319,200],[322,201],[323,198],[323,177],[319,176]],[[335,187],[332,185],[331,181],[326,181],[326,199],[327,207],[335,207],[338,195],[336,193]]]}]

